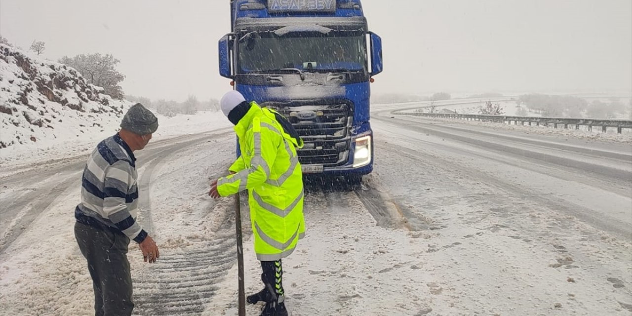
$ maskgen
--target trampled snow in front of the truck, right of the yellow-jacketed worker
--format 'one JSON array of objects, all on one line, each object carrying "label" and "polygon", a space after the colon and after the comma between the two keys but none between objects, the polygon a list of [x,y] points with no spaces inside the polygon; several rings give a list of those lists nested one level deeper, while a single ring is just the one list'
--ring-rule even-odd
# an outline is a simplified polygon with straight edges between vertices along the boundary
[{"label": "trampled snow in front of the truck, right of the yellow-jacketed worker", "polygon": [[[376,143],[367,181],[422,229],[375,226],[352,192],[308,195],[307,235],[284,259],[293,315],[629,315],[629,243],[453,162],[395,150],[413,142],[388,143]],[[247,293],[260,289],[254,256],[246,244]],[[236,276],[233,267],[202,315],[236,315]]]}]

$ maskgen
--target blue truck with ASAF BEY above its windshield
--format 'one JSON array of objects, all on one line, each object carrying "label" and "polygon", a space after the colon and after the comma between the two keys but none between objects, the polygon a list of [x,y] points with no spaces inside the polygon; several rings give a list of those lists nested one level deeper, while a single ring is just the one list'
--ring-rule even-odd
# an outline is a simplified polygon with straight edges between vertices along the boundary
[{"label": "blue truck with ASAF BEY above its windshield", "polygon": [[303,138],[304,174],[360,183],[373,170],[369,97],[382,40],[360,0],[231,0],[219,72]]}]

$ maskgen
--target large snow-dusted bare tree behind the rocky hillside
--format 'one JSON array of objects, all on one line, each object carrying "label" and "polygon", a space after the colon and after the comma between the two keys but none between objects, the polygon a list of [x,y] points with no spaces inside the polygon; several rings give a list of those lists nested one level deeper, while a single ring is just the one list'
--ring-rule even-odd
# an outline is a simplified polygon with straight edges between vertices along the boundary
[{"label": "large snow-dusted bare tree behind the rocky hillside", "polygon": [[123,88],[119,85],[125,76],[116,70],[116,64],[120,62],[111,54],[81,54],[73,58],[64,56],[59,59],[59,63],[75,68],[88,82],[103,87],[107,95],[119,100],[125,97]]}]

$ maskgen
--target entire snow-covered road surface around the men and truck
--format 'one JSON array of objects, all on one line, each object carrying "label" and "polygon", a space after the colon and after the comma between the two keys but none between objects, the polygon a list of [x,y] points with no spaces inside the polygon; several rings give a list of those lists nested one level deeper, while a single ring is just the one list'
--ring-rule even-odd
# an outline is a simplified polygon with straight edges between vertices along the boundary
[{"label": "entire snow-covered road surface around the men and truck", "polygon": [[[307,235],[284,260],[293,315],[632,314],[629,143],[391,109],[374,107],[362,186],[307,186]],[[137,315],[236,315],[233,199],[206,195],[233,147],[216,130],[139,152],[140,220],[161,259],[130,247]],[[90,315],[72,230],[83,162],[42,166],[3,170],[0,310]],[[250,238],[244,248],[246,291],[258,291]]]}]

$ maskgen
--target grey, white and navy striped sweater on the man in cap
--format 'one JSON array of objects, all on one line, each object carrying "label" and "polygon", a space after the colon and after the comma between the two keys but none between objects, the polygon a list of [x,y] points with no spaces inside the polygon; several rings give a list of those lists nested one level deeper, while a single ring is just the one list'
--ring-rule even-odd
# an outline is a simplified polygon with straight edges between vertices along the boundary
[{"label": "grey, white and navy striped sweater on the man in cap", "polygon": [[141,243],[147,233],[136,222],[138,205],[136,157],[118,135],[106,138],[88,158],[83,169],[78,222],[123,232]]}]

